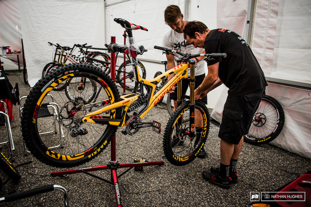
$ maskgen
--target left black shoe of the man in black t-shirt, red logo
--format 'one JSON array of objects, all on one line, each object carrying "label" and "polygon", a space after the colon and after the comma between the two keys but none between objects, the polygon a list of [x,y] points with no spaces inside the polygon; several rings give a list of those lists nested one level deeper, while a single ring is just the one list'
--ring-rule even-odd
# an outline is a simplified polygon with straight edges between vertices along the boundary
[{"label": "left black shoe of the man in black t-shirt, red logo", "polygon": [[210,171],[203,171],[202,176],[207,182],[219,187],[228,189],[231,186],[231,178],[221,178],[219,176],[219,168],[211,167]]}]

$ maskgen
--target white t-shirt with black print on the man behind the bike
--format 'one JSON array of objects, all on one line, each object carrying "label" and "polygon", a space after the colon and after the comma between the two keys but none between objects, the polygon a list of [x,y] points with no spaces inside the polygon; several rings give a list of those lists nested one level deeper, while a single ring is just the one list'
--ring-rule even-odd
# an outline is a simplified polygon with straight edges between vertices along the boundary
[{"label": "white t-shirt with black print on the man behind the bike", "polygon": [[[182,53],[199,54],[204,52],[204,48],[195,48],[183,38],[183,33],[178,33],[173,29],[170,29],[163,37],[163,47],[171,50],[177,50]],[[180,55],[174,56],[175,66],[177,66],[177,59],[181,58]],[[205,61],[199,61],[195,67],[194,75],[202,75],[205,73]],[[170,69],[170,68],[168,68]],[[188,69],[188,76],[190,76],[190,70]]]}]

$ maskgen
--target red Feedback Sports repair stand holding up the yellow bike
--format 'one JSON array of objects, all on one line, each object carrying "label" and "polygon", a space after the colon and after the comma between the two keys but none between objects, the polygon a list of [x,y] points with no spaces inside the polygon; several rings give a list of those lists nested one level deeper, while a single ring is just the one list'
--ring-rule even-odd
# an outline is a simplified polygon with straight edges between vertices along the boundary
[{"label": "red Feedback Sports repair stand holding up the yellow bike", "polygon": [[[115,43],[115,37],[111,37],[111,43]],[[111,52],[111,77],[113,80],[115,80],[115,53]],[[125,163],[120,164],[118,163],[118,160],[116,160],[116,142],[115,142],[115,134],[114,137],[111,140],[111,159],[109,160],[109,163],[107,165],[97,166],[97,167],[89,167],[89,168],[82,168],[82,169],[76,169],[76,170],[65,170],[65,171],[59,171],[59,172],[53,172],[52,176],[61,176],[61,175],[68,175],[68,174],[76,174],[76,173],[85,173],[88,174],[94,178],[98,178],[106,183],[109,183],[111,185],[114,185],[114,193],[116,196],[116,203],[118,207],[122,207],[121,202],[121,192],[119,188],[118,178],[121,177],[123,174],[131,170],[133,167],[136,171],[142,171],[143,166],[151,166],[151,165],[163,165],[164,161],[156,161],[156,162],[148,162],[146,160],[139,160],[135,159],[132,163]],[[122,174],[119,176],[117,175],[117,169],[118,168],[129,168],[125,170]],[[104,178],[100,178],[96,175],[93,175],[89,172],[91,171],[97,171],[97,170],[111,170],[111,181],[105,180]]]}]

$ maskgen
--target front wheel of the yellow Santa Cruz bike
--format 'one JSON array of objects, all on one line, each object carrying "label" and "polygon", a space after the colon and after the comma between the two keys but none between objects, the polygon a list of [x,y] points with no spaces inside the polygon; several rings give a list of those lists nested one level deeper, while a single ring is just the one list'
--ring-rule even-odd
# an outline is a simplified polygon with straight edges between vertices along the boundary
[{"label": "front wheel of the yellow Santa Cruz bike", "polygon": [[[189,137],[189,101],[181,104],[169,118],[163,136],[166,159],[173,165],[182,166],[191,162],[205,145],[210,128],[210,115],[205,104],[195,103],[196,136]],[[202,132],[200,133],[202,129]]]}]

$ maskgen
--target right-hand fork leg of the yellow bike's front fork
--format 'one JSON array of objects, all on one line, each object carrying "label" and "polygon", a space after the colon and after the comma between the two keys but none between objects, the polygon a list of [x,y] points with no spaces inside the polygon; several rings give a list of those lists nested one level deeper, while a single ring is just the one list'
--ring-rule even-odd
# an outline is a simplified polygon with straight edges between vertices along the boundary
[{"label": "right-hand fork leg of the yellow bike's front fork", "polygon": [[195,62],[193,60],[190,61],[190,134],[189,136],[191,138],[194,137],[194,64]]}]

